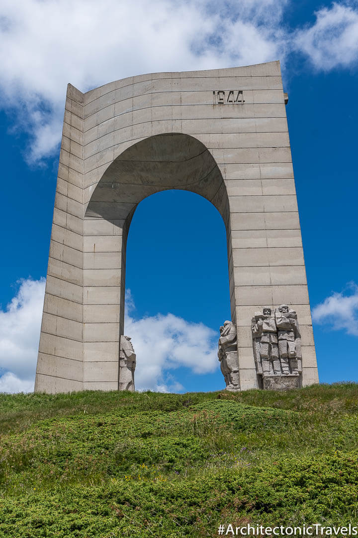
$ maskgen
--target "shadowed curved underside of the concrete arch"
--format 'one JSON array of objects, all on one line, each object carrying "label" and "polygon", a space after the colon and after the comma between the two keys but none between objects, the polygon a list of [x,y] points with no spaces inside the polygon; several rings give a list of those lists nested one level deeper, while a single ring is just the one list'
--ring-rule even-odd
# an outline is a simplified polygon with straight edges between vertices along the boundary
[{"label": "shadowed curved underside of the concrete arch", "polygon": [[157,134],[123,151],[94,189],[85,218],[126,221],[145,197],[167,189],[200,194],[225,221],[228,196],[221,171],[198,139],[182,133]]}]

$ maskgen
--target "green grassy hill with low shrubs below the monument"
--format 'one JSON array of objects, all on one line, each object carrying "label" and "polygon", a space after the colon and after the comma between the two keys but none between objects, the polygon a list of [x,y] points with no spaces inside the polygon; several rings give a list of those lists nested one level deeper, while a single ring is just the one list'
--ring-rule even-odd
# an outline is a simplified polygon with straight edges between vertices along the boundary
[{"label": "green grassy hill with low shrubs below the monument", "polygon": [[0,537],[358,522],[358,385],[0,394]]}]

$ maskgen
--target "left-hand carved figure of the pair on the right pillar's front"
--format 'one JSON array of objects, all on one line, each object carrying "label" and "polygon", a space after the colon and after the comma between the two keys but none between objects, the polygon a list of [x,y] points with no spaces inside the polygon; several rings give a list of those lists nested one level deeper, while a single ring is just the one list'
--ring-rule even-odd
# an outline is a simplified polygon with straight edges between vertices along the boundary
[{"label": "left-hand carved figure of the pair on the right pillar's front", "polygon": [[275,375],[281,374],[277,328],[275,318],[271,315],[271,308],[264,307],[263,314],[255,312],[251,330],[257,373],[262,372],[263,376],[268,376],[270,365],[272,365],[273,373]]}]

